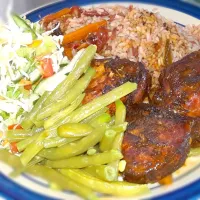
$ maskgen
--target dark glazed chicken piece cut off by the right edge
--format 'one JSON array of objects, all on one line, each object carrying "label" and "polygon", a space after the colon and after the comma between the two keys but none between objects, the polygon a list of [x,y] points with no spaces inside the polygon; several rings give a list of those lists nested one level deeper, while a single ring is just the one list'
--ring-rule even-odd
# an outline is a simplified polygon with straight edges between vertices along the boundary
[{"label": "dark glazed chicken piece cut off by the right edge", "polygon": [[193,121],[192,147],[200,146],[200,50],[164,69],[153,103]]}]

